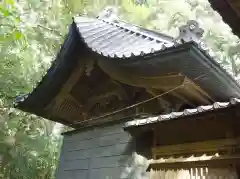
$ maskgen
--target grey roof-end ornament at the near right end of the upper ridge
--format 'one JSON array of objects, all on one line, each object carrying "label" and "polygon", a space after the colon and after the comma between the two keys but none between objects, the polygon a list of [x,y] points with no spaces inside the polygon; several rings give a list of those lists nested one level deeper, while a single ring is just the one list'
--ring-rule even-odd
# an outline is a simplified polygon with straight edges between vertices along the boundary
[{"label": "grey roof-end ornament at the near right end of the upper ridge", "polygon": [[201,43],[204,30],[199,27],[195,20],[189,20],[186,25],[179,28],[179,36],[175,39],[176,43],[182,44],[185,42]]}]

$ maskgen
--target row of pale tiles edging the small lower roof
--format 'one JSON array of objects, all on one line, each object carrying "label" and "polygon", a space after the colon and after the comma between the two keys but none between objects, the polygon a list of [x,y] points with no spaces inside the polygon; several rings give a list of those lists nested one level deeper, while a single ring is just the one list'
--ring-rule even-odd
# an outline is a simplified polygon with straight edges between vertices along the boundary
[{"label": "row of pale tiles edging the small lower roof", "polygon": [[240,103],[240,99],[232,98],[229,102],[215,102],[212,105],[199,106],[194,109],[185,109],[184,111],[181,111],[181,112],[172,112],[169,114],[164,114],[164,115],[155,116],[155,117],[135,119],[135,120],[126,122],[124,127],[129,128],[134,126],[143,126],[147,124],[158,123],[161,121],[176,119],[179,117],[190,116],[190,115],[199,114],[207,111],[214,111],[221,108],[228,108],[238,103]]}]

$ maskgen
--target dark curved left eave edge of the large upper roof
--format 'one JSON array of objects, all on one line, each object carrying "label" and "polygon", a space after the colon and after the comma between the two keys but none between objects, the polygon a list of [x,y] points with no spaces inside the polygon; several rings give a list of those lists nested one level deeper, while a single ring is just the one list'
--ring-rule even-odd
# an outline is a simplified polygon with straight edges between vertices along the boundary
[{"label": "dark curved left eave edge of the large upper roof", "polygon": [[[79,35],[75,23],[72,23],[69,33],[51,67],[32,92],[16,98],[14,106],[26,112],[39,113],[39,111],[42,111],[58,94],[61,86],[75,67],[77,58],[73,57],[76,55],[76,48],[78,47]],[[31,111],[28,109],[29,106],[31,106]]]}]

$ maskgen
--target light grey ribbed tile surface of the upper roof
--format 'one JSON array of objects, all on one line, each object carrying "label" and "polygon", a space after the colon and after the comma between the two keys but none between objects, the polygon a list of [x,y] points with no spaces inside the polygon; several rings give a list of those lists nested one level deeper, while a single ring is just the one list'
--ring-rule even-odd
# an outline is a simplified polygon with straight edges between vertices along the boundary
[{"label": "light grey ribbed tile surface of the upper roof", "polygon": [[76,17],[74,22],[86,45],[105,57],[129,58],[174,45],[171,37],[127,23],[88,17]]}]

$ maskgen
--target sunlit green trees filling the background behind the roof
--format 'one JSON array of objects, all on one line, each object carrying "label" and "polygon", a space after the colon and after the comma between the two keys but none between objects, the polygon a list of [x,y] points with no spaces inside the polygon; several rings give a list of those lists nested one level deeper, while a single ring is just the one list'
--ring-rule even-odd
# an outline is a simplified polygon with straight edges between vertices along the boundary
[{"label": "sunlit green trees filling the background behind the roof", "polygon": [[177,36],[197,20],[219,62],[240,73],[239,39],[207,0],[2,0],[0,1],[0,179],[53,179],[61,137],[59,126],[12,109],[15,96],[35,87],[62,44],[71,18],[97,16],[105,6],[120,19]]}]

